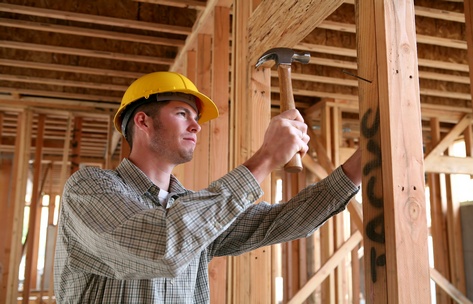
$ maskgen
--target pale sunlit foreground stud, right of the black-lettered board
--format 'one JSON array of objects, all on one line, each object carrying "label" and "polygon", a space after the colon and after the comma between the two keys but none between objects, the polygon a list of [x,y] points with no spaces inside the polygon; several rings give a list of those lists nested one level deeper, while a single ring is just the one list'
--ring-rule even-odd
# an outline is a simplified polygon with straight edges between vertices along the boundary
[{"label": "pale sunlit foreground stud, right of the black-lettered board", "polygon": [[430,297],[430,268],[414,3],[374,8],[388,303],[420,303]]}]

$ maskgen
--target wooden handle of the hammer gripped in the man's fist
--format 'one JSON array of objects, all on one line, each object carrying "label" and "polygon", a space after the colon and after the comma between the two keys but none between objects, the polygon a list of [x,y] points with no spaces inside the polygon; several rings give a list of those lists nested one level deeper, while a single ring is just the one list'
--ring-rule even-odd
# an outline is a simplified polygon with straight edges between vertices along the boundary
[{"label": "wooden handle of the hammer gripped in the man's fist", "polygon": [[[281,113],[286,110],[295,109],[294,94],[292,93],[291,65],[279,64],[279,90],[281,99]],[[296,153],[292,159],[284,166],[284,170],[289,173],[298,173],[302,171],[301,154]]]}]

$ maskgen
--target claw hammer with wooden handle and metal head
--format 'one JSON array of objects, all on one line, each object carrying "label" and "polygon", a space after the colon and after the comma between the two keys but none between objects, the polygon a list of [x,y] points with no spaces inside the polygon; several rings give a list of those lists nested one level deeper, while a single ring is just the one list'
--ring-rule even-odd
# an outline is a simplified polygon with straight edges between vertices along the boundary
[{"label": "claw hammer with wooden handle and metal head", "polygon": [[[296,53],[290,48],[272,48],[266,51],[256,63],[256,67],[266,62],[274,62],[278,68],[279,90],[281,99],[281,112],[295,109],[294,95],[292,93],[291,64],[293,62],[309,63],[310,54]],[[271,67],[273,64],[265,64],[264,67]],[[292,159],[284,166],[284,170],[289,173],[302,171],[301,155],[296,153]]]}]

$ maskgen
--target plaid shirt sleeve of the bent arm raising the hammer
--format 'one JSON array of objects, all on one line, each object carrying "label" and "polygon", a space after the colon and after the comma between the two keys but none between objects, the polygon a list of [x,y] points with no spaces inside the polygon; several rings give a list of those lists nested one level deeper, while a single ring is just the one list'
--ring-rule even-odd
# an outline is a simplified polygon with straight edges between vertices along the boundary
[{"label": "plaid shirt sleeve of the bent arm raising the hammer", "polygon": [[205,190],[172,198],[168,209],[150,209],[106,172],[79,170],[68,180],[59,229],[70,267],[118,279],[179,275],[262,194],[237,168]]}]

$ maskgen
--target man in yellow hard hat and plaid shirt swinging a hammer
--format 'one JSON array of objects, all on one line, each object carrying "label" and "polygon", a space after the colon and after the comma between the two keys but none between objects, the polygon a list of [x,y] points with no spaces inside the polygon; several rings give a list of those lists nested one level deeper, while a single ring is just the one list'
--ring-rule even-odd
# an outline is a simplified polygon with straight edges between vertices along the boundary
[{"label": "man in yellow hard hat and plaid shirt swinging a hammer", "polygon": [[207,267],[302,238],[344,210],[358,191],[360,153],[289,202],[254,204],[259,183],[307,152],[297,110],[273,118],[261,148],[207,189],[171,174],[192,159],[215,104],[184,76],[157,72],[125,92],[115,127],[131,146],[116,170],[84,168],[67,181],[55,259],[58,303],[208,303]]}]

